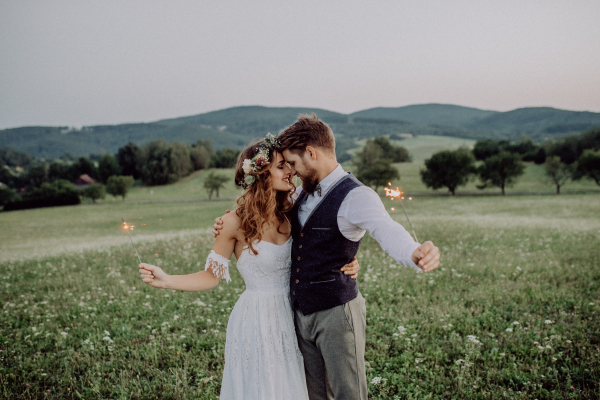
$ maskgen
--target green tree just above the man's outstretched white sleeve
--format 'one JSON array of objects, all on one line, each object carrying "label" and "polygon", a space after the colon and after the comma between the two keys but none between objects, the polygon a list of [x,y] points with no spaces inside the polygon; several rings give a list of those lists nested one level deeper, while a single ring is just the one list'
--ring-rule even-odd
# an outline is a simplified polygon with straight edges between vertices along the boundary
[{"label": "green tree just above the man's outstretched white sleeve", "polygon": [[375,186],[375,191],[391,180],[400,179],[398,170],[375,141],[367,140],[362,150],[357,151],[352,163],[356,166],[356,177],[365,185]]}]

